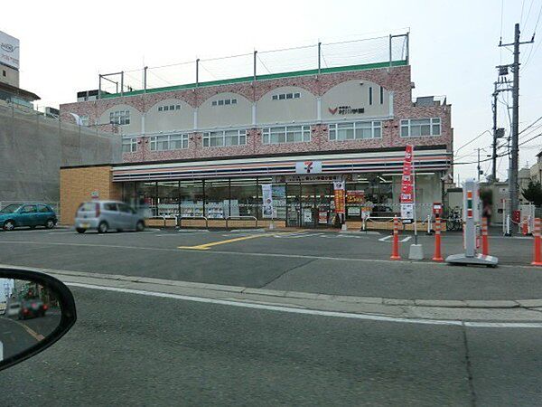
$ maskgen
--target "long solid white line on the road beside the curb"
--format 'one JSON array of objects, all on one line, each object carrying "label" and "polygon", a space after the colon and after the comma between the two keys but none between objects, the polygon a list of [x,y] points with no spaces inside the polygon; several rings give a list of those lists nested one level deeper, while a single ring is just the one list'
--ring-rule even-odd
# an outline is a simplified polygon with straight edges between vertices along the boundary
[{"label": "long solid white line on the road beside the curb", "polygon": [[115,291],[126,294],[136,294],[147,297],[159,297],[159,298],[173,298],[182,299],[185,301],[201,302],[207,304],[225,305],[239,308],[253,308],[253,309],[265,309],[268,311],[288,312],[291,314],[303,314],[313,315],[320,317],[341,317],[350,319],[360,319],[367,321],[380,321],[380,322],[396,322],[402,324],[423,324],[423,325],[444,325],[453,327],[500,327],[500,328],[540,328],[542,322],[464,322],[459,320],[438,320],[438,319],[421,319],[421,318],[406,318],[406,317],[386,317],[381,315],[372,314],[354,314],[350,312],[337,312],[337,311],[322,311],[319,309],[307,309],[307,308],[291,308],[278,305],[267,305],[261,303],[241,302],[227,299],[214,299],[214,298],[201,298],[192,296],[183,296],[180,294],[169,294],[163,292],[146,291],[143,289],[121,289],[117,287],[103,287],[93,284],[82,284],[76,282],[67,282],[66,285],[70,287],[79,287],[81,289],[98,289],[103,291]]}]

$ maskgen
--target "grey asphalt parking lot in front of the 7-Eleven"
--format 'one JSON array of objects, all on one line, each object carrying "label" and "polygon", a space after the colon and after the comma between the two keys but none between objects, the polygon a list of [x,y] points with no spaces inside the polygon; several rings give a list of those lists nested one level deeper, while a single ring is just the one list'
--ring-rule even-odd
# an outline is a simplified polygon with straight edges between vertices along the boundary
[{"label": "grey asphalt parking lot in front of the 7-Eleven", "polygon": [[[0,232],[8,265],[154,277],[210,284],[417,299],[538,298],[542,270],[529,267],[532,239],[491,237],[497,269],[430,260],[390,261],[386,233],[319,231]],[[410,238],[410,239],[408,239]],[[413,236],[402,235],[407,257]],[[444,256],[462,250],[462,235],[443,237]],[[426,257],[434,237],[420,235]]]}]

